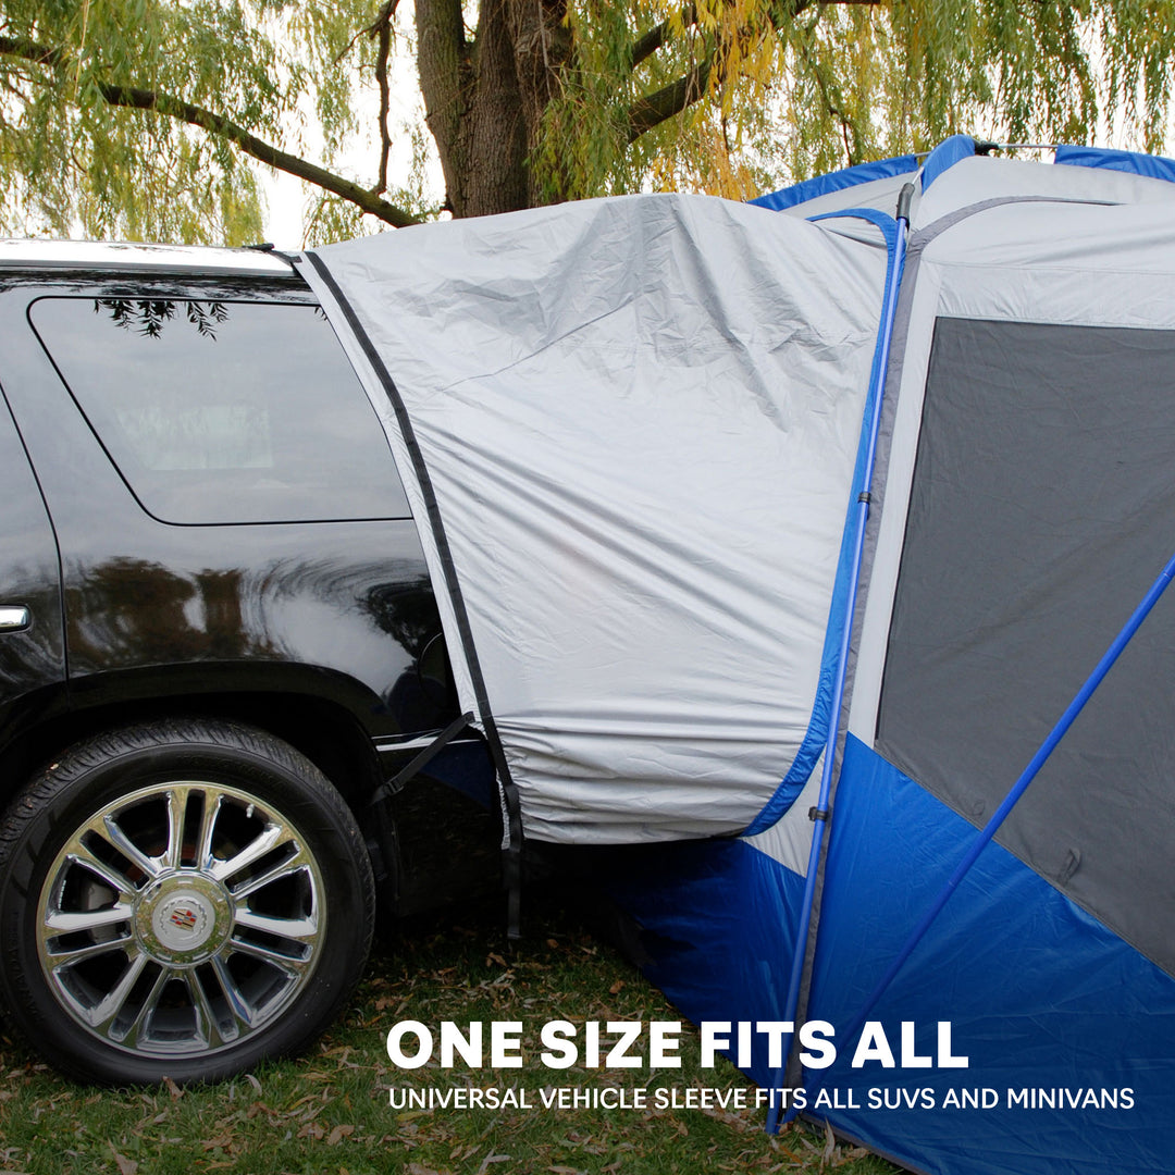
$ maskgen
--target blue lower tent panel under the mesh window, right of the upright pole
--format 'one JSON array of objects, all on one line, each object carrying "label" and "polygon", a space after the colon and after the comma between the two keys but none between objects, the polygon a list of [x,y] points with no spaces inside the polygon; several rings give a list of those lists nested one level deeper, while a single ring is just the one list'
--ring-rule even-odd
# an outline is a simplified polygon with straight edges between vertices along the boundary
[{"label": "blue lower tent panel under the mesh window, right of the upright pole", "polygon": [[[847,1025],[975,831],[854,738],[838,811],[808,1015]],[[929,1046],[921,1052],[934,1050],[936,1021],[951,1021],[953,1053],[969,1067],[853,1069],[842,1054],[810,1070],[810,1102],[824,1087],[839,1088],[841,1101],[855,1090],[862,1108],[871,1089],[882,1106],[886,1096],[898,1103],[828,1112],[868,1146],[915,1167],[933,1155],[944,1175],[1101,1175],[1106,1155],[1090,1140],[1108,1132],[1114,1170],[1170,1170],[1175,981],[999,845],[985,848],[871,1019],[915,1021],[919,1046]],[[976,1087],[996,1090],[999,1104],[942,1106],[948,1089]],[[934,1108],[902,1102],[902,1089],[927,1088]],[[1093,1089],[1099,1100],[1117,1090],[1119,1108],[1009,1106],[1009,1090],[1058,1089]]]}]

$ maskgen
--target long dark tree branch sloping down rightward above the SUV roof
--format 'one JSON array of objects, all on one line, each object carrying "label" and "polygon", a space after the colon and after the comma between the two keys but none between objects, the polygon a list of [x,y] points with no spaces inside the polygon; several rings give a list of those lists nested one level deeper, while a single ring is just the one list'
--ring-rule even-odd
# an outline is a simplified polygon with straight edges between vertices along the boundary
[{"label": "long dark tree branch sloping down rightward above the SUV roof", "polygon": [[[0,56],[21,58],[35,65],[51,66],[56,69],[69,65],[68,56],[60,49],[38,45],[22,38],[0,36]],[[403,208],[397,208],[377,193],[362,188],[350,180],[344,180],[341,175],[335,175],[333,172],[300,159],[297,155],[280,150],[229,119],[206,110],[203,107],[152,89],[139,89],[133,86],[119,86],[105,81],[98,81],[96,86],[108,106],[132,110],[150,110],[200,127],[207,134],[233,143],[243,154],[250,155],[258,162],[276,168],[278,172],[286,172],[288,175],[297,176],[297,179],[306,180],[324,192],[347,200],[358,207],[361,212],[376,216],[385,224],[404,228],[408,224],[419,223],[418,216],[412,216]]]}]

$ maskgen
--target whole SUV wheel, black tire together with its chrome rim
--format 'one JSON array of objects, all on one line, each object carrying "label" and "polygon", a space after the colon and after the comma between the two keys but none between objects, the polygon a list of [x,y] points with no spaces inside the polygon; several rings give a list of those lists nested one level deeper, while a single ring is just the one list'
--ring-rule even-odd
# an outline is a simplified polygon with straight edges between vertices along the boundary
[{"label": "whole SUV wheel, black tire together with its chrome rim", "polygon": [[293,747],[203,719],[80,743],[0,825],[0,992],[82,1081],[213,1081],[306,1048],[358,980],[371,865]]}]

